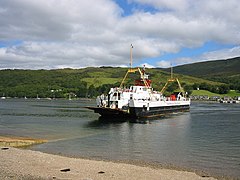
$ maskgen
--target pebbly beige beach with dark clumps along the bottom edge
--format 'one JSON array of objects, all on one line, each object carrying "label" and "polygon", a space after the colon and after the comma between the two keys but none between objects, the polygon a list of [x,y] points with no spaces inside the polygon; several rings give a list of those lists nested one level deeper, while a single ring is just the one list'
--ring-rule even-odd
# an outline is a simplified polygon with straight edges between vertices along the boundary
[{"label": "pebbly beige beach with dark clumps along the bottom edge", "polygon": [[0,179],[203,179],[193,172],[76,159],[37,151],[0,149]]}]

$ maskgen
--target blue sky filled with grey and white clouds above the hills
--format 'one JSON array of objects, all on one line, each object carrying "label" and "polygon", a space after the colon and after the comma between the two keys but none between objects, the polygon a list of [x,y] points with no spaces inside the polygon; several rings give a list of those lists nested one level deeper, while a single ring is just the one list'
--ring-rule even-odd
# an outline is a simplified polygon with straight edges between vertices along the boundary
[{"label": "blue sky filled with grey and white clouds above the hills", "polygon": [[0,69],[240,56],[239,0],[0,0]]}]

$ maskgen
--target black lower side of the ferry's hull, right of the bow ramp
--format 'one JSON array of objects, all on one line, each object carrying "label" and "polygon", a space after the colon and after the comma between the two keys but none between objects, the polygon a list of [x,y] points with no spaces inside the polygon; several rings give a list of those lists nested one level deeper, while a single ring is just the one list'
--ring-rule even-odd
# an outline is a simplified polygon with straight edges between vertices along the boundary
[{"label": "black lower side of the ferry's hull, right of the bow ramp", "polygon": [[170,114],[174,112],[189,111],[189,109],[190,109],[189,105],[154,107],[154,108],[150,108],[149,111],[143,108],[130,107],[129,113],[131,114],[131,117],[139,119],[139,118],[161,117],[166,114]]}]

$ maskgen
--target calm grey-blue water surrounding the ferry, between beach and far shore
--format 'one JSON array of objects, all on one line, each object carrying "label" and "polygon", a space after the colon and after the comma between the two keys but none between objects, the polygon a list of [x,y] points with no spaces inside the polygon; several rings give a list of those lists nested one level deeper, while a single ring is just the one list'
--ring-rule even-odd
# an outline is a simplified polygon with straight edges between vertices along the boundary
[{"label": "calm grey-blue water surrounding the ferry, between beach and far shore", "polygon": [[240,178],[240,104],[192,103],[146,123],[104,123],[95,101],[0,100],[0,136],[48,139],[48,153],[173,165]]}]

